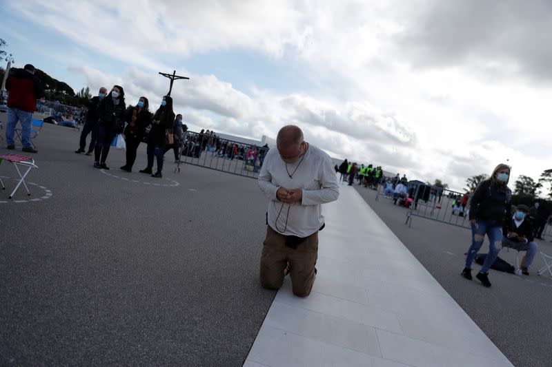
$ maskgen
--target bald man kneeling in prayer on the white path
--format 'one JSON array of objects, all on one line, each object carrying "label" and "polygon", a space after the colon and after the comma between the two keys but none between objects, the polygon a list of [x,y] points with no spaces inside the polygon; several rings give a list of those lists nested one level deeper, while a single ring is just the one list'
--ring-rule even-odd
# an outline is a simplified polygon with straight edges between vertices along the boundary
[{"label": "bald man kneeling in prayer on the white path", "polygon": [[304,141],[299,127],[278,132],[266,154],[259,187],[268,202],[260,278],[266,289],[279,289],[290,274],[293,294],[306,297],[315,281],[318,231],[324,227],[322,204],[337,200],[339,183],[333,162]]}]

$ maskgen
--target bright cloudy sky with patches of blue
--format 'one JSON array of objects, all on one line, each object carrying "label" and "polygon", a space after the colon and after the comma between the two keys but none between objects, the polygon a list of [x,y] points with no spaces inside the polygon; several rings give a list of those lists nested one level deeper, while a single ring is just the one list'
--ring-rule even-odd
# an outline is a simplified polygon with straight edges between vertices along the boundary
[{"label": "bright cloudy sky with patches of blue", "polygon": [[193,129],[294,123],[338,158],[464,187],[552,168],[551,1],[7,1],[0,37],[75,91],[168,80]]}]

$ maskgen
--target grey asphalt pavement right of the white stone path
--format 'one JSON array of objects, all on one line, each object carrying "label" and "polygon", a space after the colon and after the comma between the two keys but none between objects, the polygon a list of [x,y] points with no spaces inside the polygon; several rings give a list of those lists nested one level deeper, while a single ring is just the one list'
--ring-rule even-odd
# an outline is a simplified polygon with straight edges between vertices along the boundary
[{"label": "grey asphalt pavement right of the white stone path", "polygon": [[[475,277],[470,282],[460,276],[464,253],[471,244],[469,229],[417,217],[408,228],[405,224],[407,209],[385,198],[376,201],[374,190],[354,185],[415,258],[515,366],[552,366],[552,278],[535,275],[543,264],[540,255],[535,258],[529,276],[491,270],[489,279],[493,285],[487,289]],[[538,244],[550,255],[552,243],[549,240],[552,238]],[[486,239],[481,252],[488,251]],[[515,264],[515,251],[502,250],[499,256]],[[480,266],[474,263],[473,269],[475,275]]]}]

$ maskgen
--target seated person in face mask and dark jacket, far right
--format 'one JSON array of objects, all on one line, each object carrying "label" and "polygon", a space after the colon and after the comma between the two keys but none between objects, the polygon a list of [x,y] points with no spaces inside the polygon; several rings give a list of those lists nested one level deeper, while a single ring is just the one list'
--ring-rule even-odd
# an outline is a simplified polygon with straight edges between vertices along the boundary
[{"label": "seated person in face mask and dark jacket, far right", "polygon": [[529,207],[517,205],[511,220],[504,221],[502,233],[502,247],[511,247],[517,251],[527,251],[522,259],[520,268],[522,274],[529,275],[529,266],[538,252],[538,244],[533,242],[533,222],[529,219]]}]

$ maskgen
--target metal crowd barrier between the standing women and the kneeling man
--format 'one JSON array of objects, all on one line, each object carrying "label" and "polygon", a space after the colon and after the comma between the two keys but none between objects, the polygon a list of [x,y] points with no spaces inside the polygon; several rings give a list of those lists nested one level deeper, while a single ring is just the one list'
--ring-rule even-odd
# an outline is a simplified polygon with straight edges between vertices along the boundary
[{"label": "metal crowd barrier between the standing women and the kneeling man", "polygon": [[180,171],[180,163],[186,163],[255,179],[268,152],[268,147],[189,131],[179,149],[180,161],[175,172]]}]

